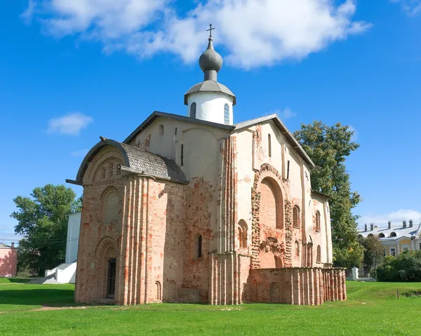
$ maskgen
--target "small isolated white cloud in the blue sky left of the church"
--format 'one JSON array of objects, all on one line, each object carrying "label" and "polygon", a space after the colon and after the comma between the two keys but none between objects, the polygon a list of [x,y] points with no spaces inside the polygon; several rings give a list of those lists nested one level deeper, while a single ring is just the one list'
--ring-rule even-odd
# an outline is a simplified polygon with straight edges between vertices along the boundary
[{"label": "small isolated white cloud in the blue sky left of the church", "polygon": [[65,135],[79,135],[80,131],[93,122],[91,116],[81,113],[67,114],[60,118],[53,118],[48,121],[48,133],[60,133]]}]

